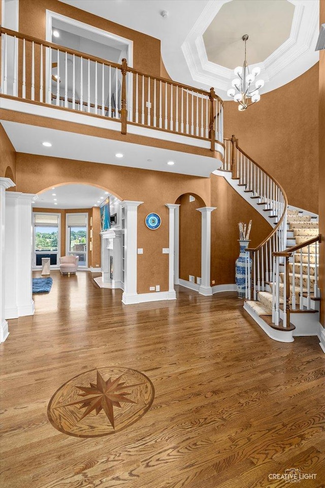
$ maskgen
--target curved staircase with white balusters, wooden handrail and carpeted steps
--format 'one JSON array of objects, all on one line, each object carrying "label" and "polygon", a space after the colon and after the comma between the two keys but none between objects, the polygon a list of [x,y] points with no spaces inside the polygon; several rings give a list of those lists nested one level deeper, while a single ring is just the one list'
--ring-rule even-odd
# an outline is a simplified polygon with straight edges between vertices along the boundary
[{"label": "curved staircase with white balusters, wooden handrail and carpeted steps", "polygon": [[281,185],[249,158],[235,136],[224,145],[223,165],[214,173],[272,227],[259,246],[246,250],[244,309],[276,341],[320,335],[318,216],[288,206]]}]

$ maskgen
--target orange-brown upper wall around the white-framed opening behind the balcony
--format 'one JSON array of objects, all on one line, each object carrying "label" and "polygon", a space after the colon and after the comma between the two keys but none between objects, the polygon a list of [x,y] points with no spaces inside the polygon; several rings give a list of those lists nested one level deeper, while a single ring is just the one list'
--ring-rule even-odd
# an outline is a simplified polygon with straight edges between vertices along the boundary
[{"label": "orange-brown upper wall around the white-framed opening behind the balcony", "polygon": [[133,29],[103,19],[89,12],[76,9],[57,0],[22,0],[19,2],[19,32],[39,39],[46,36],[46,10],[57,12],[103,31],[133,41],[133,67],[139,71],[159,76],[160,41]]}]

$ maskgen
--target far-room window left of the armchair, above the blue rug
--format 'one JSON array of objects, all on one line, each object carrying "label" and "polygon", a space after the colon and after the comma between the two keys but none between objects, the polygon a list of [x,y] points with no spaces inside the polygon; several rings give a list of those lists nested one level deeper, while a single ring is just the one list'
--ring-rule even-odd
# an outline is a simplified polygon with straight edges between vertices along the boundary
[{"label": "far-room window left of the armchair, above the blue rug", "polygon": [[42,258],[57,264],[59,252],[59,214],[34,214],[34,265],[42,266]]}]

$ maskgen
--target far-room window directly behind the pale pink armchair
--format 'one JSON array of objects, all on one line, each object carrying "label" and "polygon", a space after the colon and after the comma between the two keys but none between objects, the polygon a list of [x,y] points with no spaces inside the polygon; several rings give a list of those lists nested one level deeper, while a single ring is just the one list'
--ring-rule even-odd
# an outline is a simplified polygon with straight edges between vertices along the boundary
[{"label": "far-room window directly behind the pale pink armchair", "polygon": [[79,266],[87,266],[87,214],[67,214],[67,255],[79,256]]}]

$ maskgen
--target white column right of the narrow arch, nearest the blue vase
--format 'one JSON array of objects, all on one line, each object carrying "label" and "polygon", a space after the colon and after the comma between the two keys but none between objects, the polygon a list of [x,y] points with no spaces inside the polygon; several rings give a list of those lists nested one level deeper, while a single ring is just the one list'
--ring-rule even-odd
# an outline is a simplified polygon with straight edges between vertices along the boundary
[{"label": "white column right of the narrow arch, nearest the blue vase", "polygon": [[216,207],[197,208],[202,214],[202,237],[201,237],[201,295],[212,295],[210,286],[210,263],[211,263],[211,212]]}]

